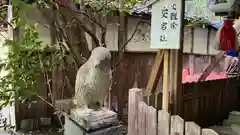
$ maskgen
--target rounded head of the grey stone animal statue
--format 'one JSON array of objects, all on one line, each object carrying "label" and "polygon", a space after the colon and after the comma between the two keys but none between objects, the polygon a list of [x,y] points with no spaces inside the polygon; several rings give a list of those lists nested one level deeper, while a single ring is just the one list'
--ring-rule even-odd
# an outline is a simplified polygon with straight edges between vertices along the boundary
[{"label": "rounded head of the grey stone animal statue", "polygon": [[96,47],[92,50],[90,60],[95,67],[110,67],[111,53],[105,47]]}]

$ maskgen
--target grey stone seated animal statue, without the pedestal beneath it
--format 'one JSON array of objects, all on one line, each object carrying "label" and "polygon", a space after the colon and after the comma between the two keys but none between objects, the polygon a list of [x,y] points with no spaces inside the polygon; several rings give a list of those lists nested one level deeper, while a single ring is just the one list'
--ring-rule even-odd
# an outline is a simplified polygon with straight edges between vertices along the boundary
[{"label": "grey stone seated animal statue, without the pedestal beneath it", "polygon": [[111,53],[105,47],[96,47],[92,50],[87,62],[77,72],[73,99],[77,108],[100,109],[109,90],[111,79]]}]

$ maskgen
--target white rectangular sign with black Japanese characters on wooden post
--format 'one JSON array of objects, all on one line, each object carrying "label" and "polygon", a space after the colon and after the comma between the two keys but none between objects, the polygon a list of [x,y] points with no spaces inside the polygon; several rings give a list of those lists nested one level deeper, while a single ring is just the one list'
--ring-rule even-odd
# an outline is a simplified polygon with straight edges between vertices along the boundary
[{"label": "white rectangular sign with black Japanese characters on wooden post", "polygon": [[160,0],[152,6],[151,48],[179,49],[182,0]]}]

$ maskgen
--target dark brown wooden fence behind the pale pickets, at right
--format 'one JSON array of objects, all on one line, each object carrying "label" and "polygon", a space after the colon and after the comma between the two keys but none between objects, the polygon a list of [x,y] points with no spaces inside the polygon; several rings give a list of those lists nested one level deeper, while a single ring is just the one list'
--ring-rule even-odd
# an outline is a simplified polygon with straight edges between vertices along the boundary
[{"label": "dark brown wooden fence behind the pale pickets, at right", "polygon": [[239,110],[239,84],[239,77],[183,84],[181,116],[202,127],[222,122]]}]

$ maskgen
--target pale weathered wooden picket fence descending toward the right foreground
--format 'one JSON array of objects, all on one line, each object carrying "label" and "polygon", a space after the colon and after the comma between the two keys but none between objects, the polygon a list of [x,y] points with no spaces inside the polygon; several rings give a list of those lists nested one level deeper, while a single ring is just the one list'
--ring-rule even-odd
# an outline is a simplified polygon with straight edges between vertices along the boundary
[{"label": "pale weathered wooden picket fence descending toward the right foreground", "polygon": [[128,104],[128,135],[218,135],[212,129],[202,129],[192,121],[171,116],[143,102],[142,90],[130,89]]}]

